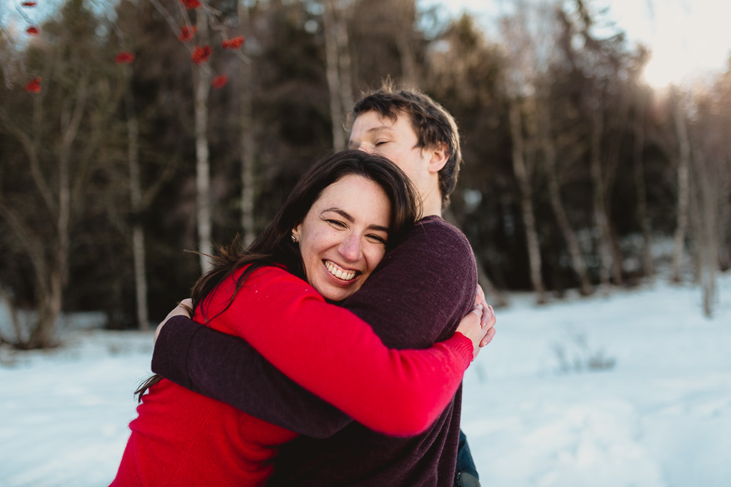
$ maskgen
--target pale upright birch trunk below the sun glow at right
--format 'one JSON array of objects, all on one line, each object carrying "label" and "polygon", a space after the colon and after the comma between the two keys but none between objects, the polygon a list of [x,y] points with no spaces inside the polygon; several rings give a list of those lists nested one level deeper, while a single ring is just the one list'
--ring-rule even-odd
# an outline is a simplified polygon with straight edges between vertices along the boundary
[{"label": "pale upright birch trunk below the sun glow at right", "polygon": [[688,229],[688,204],[690,198],[689,166],[690,166],[690,141],[683,113],[681,112],[680,101],[675,103],[675,130],[678,134],[678,207],[676,214],[675,238],[673,239],[673,283],[681,282],[681,264],[683,261],[683,248],[685,247],[686,231]]}]

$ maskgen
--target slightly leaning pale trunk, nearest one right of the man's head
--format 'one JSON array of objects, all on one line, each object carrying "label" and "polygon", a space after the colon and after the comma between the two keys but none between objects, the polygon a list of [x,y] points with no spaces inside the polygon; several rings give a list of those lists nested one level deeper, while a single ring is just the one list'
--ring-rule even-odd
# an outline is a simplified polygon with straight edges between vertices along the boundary
[{"label": "slightly leaning pale trunk, nearest one right of the man's head", "polygon": [[536,229],[536,218],[533,212],[533,192],[526,168],[525,148],[523,140],[523,122],[520,105],[515,99],[509,101],[510,135],[512,137],[512,168],[520,187],[520,209],[523,213],[523,225],[526,228],[528,245],[528,261],[531,272],[531,283],[536,292],[539,304],[545,303],[545,288],[541,276],[541,251]]}]

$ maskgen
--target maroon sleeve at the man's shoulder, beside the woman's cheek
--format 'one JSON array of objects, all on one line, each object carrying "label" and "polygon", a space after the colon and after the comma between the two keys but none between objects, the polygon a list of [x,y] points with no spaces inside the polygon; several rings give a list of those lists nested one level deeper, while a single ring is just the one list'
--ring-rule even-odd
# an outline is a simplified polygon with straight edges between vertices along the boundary
[{"label": "maroon sleeve at the man's shoulder, beside the woman's cheek", "polygon": [[419,225],[343,303],[388,347],[428,348],[471,310],[477,264],[466,237],[441,218]]}]

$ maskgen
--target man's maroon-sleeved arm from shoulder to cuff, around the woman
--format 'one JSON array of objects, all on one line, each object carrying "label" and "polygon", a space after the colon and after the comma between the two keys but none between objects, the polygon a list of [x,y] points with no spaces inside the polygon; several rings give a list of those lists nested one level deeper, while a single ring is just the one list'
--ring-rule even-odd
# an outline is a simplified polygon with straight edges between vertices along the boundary
[{"label": "man's maroon-sleeved arm from shoulder to cuff, around the woman", "polygon": [[[477,269],[469,243],[457,231],[433,231],[434,223],[429,225],[414,229],[344,303],[389,347],[427,348],[445,340],[474,302]],[[344,426],[341,413],[333,415],[242,340],[205,327],[190,330],[164,326],[153,372],[308,436],[326,436]],[[225,356],[221,350],[227,350]],[[314,431],[320,424],[329,426]]]}]

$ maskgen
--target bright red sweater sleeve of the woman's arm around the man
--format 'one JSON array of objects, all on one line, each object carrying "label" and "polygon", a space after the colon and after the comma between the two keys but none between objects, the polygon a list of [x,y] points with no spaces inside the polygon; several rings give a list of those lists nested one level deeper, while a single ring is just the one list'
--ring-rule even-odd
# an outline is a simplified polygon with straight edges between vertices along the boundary
[{"label": "bright red sweater sleeve of the woman's arm around the man", "polygon": [[471,341],[461,334],[425,350],[389,349],[368,323],[325,303],[282,269],[252,272],[231,301],[233,288],[233,280],[221,283],[197,318],[212,318],[216,328],[242,337],[292,380],[378,432],[409,435],[431,426],[472,358]]}]

